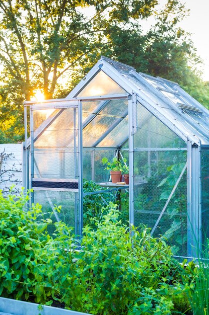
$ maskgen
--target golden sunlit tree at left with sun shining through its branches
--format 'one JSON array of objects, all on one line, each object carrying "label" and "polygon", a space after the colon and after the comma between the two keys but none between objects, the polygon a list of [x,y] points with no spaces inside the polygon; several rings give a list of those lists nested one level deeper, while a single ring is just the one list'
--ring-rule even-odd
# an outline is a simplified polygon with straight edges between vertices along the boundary
[{"label": "golden sunlit tree at left with sun shining through its branches", "polygon": [[[1,54],[5,79],[30,100],[35,88],[52,98],[59,79],[94,51],[110,27],[148,17],[156,0],[1,0]],[[89,7],[93,15],[82,10]],[[110,43],[106,42],[105,46]],[[95,49],[96,48],[96,49]],[[7,82],[8,82],[7,80]]]}]

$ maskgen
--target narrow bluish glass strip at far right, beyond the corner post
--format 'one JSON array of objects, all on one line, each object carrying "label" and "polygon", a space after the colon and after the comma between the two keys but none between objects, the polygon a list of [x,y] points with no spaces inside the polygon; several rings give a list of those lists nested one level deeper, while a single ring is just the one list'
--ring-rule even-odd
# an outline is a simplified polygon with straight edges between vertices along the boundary
[{"label": "narrow bluish glass strip at far right, beyond the corner post", "polygon": [[202,244],[209,238],[209,148],[201,152],[201,221]]}]

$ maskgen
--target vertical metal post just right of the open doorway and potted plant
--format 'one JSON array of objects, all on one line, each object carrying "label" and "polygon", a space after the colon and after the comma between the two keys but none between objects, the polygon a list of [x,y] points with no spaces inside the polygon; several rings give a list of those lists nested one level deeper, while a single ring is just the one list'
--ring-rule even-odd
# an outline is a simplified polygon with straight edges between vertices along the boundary
[{"label": "vertical metal post just right of the open doorway and potted plant", "polygon": [[134,145],[133,135],[136,131],[136,117],[133,117],[133,113],[136,113],[136,94],[133,93],[132,98],[128,101],[128,117],[129,117],[129,224],[130,227],[134,224]]}]

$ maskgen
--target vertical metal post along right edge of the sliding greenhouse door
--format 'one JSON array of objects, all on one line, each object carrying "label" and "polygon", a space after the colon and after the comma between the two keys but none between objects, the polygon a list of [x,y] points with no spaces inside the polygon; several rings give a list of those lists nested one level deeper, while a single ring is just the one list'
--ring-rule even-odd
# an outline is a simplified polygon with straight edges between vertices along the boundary
[{"label": "vertical metal post along right edge of the sliding greenhouse door", "polygon": [[82,236],[83,229],[83,126],[82,126],[82,103],[78,102],[78,195],[79,195],[79,217],[78,235]]}]

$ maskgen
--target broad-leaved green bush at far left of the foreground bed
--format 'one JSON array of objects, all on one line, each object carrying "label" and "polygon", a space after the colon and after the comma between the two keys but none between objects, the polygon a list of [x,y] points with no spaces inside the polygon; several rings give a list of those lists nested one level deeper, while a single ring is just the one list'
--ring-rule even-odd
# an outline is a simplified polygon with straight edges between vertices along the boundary
[{"label": "broad-leaved green bush at far left of the foreground bed", "polygon": [[[47,243],[43,234],[46,223],[38,223],[41,206],[31,211],[23,208],[29,197],[0,193],[0,294],[17,299],[28,299],[36,280],[36,251]],[[37,301],[42,295],[36,291]]]}]

